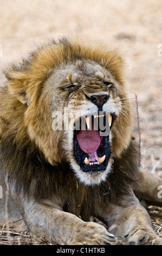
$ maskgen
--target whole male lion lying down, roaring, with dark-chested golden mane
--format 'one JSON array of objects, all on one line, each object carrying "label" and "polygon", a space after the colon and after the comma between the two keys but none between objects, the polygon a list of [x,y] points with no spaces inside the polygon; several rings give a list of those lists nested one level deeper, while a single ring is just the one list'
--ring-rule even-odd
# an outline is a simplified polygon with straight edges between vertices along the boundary
[{"label": "whole male lion lying down, roaring, with dark-chested golden mane", "polygon": [[1,220],[8,201],[9,217],[18,209],[37,242],[161,245],[139,198],[161,204],[162,182],[140,170],[119,50],[62,38],[4,74],[1,184],[10,196]]}]

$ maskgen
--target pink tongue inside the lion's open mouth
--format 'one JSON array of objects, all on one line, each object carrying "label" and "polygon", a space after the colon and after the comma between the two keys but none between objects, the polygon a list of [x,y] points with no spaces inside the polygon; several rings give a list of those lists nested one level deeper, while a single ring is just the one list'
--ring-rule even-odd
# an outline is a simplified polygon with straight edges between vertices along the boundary
[{"label": "pink tongue inside the lion's open mouth", "polygon": [[99,148],[101,142],[99,132],[96,130],[81,130],[77,133],[76,137],[80,148],[89,155],[90,159],[96,159],[96,150]]}]

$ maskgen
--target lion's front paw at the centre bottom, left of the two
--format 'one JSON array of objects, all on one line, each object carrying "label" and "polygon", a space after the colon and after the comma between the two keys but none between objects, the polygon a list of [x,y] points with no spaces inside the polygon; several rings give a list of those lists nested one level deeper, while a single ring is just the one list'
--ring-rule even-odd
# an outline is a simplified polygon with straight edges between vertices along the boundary
[{"label": "lion's front paw at the centre bottom, left of the two", "polygon": [[94,222],[84,223],[70,237],[70,245],[118,245],[118,237],[109,233],[102,225]]}]

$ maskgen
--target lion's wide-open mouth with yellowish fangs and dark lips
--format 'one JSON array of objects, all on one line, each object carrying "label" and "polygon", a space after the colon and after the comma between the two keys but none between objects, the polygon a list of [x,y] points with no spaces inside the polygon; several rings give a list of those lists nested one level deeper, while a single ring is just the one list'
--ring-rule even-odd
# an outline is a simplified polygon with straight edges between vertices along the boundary
[{"label": "lion's wide-open mouth with yellowish fangs and dark lips", "polygon": [[80,118],[79,130],[74,130],[74,155],[83,172],[106,169],[111,154],[112,117],[112,114],[103,114]]}]

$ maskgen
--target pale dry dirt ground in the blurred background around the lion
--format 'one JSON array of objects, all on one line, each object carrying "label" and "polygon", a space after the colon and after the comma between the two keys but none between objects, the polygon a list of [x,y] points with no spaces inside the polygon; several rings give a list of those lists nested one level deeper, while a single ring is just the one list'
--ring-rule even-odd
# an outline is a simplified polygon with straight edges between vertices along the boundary
[{"label": "pale dry dirt ground in the blurred background around the lion", "polygon": [[[62,35],[119,46],[126,60],[137,139],[135,95],[138,100],[142,168],[162,176],[161,16],[161,0],[0,0],[0,69],[36,45]],[[2,71],[0,78],[1,85],[5,80]],[[154,229],[162,236],[162,209],[149,206],[148,211]],[[14,237],[15,243],[22,242],[22,236]],[[31,243],[30,237],[24,239]],[[2,239],[0,231],[1,243],[8,244],[8,240]]]}]

